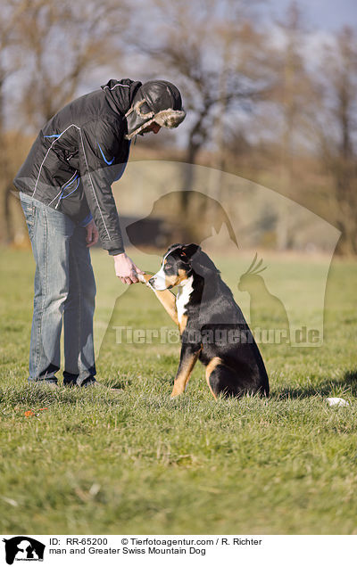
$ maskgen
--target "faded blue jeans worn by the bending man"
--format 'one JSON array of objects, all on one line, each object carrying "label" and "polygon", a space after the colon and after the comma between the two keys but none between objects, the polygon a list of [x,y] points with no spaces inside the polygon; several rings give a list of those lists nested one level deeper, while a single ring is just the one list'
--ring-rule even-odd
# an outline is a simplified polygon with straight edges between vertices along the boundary
[{"label": "faded blue jeans worn by the bending man", "polygon": [[57,382],[64,333],[64,384],[95,381],[95,277],[86,228],[25,193],[21,205],[36,262],[29,382]]}]

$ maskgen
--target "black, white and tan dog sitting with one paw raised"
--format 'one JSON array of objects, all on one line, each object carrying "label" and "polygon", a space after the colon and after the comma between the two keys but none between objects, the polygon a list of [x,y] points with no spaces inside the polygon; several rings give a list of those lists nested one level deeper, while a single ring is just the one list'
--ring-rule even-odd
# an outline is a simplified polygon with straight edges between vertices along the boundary
[{"label": "black, white and tan dog sitting with one paw raised", "polygon": [[[220,271],[198,244],[173,244],[155,275],[138,275],[179,325],[181,354],[171,398],[187,388],[195,363],[206,367],[215,399],[269,396],[269,379],[253,334]],[[170,290],[177,286],[175,296]]]}]

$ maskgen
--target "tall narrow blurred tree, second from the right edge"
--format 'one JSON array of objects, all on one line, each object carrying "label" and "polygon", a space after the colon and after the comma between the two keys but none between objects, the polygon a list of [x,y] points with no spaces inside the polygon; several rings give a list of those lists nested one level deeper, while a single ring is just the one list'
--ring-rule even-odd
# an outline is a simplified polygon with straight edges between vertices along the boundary
[{"label": "tall narrow blurred tree, second from the right edge", "polygon": [[[271,108],[269,130],[279,148],[275,156],[279,166],[278,188],[286,196],[296,198],[294,158],[299,143],[306,137],[308,116],[316,103],[303,53],[307,30],[298,4],[292,2],[288,6],[274,29],[278,40],[274,45],[274,35],[270,34],[269,66],[275,82],[267,97]],[[278,250],[286,250],[291,244],[286,206],[287,202],[281,203],[277,219]]]}]

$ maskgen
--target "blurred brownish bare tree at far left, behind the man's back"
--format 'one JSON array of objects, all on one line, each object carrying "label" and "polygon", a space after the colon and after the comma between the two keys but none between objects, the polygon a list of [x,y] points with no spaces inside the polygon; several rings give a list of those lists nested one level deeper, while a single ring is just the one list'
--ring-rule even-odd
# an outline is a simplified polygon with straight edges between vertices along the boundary
[{"label": "blurred brownish bare tree at far left, behind the man's back", "polygon": [[[0,144],[3,226],[13,239],[12,177],[21,165],[5,155],[4,82],[12,78],[12,131],[36,133],[73,98],[91,71],[120,61],[125,0],[13,0],[0,12]],[[17,73],[15,81],[13,75]],[[20,85],[20,87],[19,87]],[[17,154],[17,152],[12,152]],[[11,165],[9,165],[11,164]]]}]

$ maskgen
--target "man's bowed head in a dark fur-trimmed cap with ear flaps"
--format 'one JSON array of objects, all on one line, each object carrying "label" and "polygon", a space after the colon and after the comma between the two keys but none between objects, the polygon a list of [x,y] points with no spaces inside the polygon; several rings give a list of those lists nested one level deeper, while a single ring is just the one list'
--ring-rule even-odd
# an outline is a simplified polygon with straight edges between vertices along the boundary
[{"label": "man's bowed head in a dark fur-trimmed cap with ear flaps", "polygon": [[126,113],[128,134],[131,140],[137,134],[154,132],[160,127],[175,128],[185,119],[179,89],[163,80],[144,83],[137,90],[129,111]]}]

